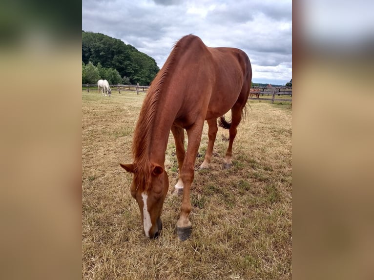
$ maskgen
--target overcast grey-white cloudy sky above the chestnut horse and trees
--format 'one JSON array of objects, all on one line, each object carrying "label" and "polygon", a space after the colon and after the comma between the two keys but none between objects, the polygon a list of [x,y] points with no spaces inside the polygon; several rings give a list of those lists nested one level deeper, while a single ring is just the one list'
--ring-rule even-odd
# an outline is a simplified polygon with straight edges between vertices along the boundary
[{"label": "overcast grey-white cloudy sky above the chestnut horse and trees", "polygon": [[236,47],[252,63],[253,82],[292,78],[291,0],[82,0],[82,29],[120,39],[162,68],[187,34],[209,47]]}]

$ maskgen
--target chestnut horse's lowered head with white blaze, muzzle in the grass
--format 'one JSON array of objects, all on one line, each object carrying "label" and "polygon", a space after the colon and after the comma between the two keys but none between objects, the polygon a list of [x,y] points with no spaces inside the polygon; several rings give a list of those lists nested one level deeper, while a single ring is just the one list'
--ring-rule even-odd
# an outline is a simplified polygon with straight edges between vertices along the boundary
[{"label": "chestnut horse's lowered head with white blaze, muzzle in the grass", "polygon": [[[150,175],[146,175],[137,170],[135,164],[121,163],[120,165],[127,172],[134,174],[130,192],[139,205],[143,233],[149,238],[158,237],[162,230],[162,207],[169,188],[169,179],[164,168],[152,164]],[[148,188],[145,182],[149,182]]]}]

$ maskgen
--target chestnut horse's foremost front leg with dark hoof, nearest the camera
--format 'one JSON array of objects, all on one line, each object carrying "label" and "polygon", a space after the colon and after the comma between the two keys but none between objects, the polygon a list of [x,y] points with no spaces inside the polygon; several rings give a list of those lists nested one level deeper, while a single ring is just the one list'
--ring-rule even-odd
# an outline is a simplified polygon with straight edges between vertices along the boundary
[{"label": "chestnut horse's foremost front leg with dark hoof, nearest the camera", "polygon": [[183,181],[183,198],[181,205],[181,216],[177,221],[176,233],[180,240],[187,240],[191,234],[192,224],[189,221],[191,212],[191,201],[189,190],[195,176],[194,165],[196,154],[199,149],[204,119],[195,122],[187,129],[188,145],[185,160],[181,169],[180,177]]}]

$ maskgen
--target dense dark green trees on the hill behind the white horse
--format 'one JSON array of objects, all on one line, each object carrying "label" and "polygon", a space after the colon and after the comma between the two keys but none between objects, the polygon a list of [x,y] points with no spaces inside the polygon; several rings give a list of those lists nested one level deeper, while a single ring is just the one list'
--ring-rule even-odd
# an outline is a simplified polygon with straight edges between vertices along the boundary
[{"label": "dense dark green trees on the hill behind the white horse", "polygon": [[119,39],[82,30],[82,83],[148,85],[160,68],[156,61]]}]

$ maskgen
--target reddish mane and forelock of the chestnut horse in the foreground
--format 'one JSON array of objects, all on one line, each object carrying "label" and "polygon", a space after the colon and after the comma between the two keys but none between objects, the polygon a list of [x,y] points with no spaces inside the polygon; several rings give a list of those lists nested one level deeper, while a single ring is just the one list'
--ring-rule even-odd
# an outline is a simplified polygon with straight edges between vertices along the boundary
[{"label": "reddish mane and forelock of the chestnut horse in the foreground", "polygon": [[169,74],[173,72],[175,61],[180,56],[180,50],[188,46],[190,40],[194,38],[197,37],[187,35],[174,44],[164,66],[151,82],[145,96],[132,142],[132,155],[135,166],[134,179],[137,182],[137,188],[141,188],[141,190],[148,191],[151,187],[152,163],[149,161],[149,146],[160,95],[167,85]]}]

